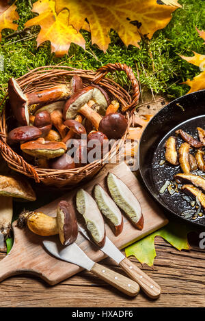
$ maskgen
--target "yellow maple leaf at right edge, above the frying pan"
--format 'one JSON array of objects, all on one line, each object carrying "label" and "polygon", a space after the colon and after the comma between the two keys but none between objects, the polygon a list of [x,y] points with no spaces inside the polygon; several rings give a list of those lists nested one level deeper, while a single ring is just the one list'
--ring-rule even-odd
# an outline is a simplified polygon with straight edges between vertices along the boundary
[{"label": "yellow maple leaf at right edge, above the frying pan", "polygon": [[[200,37],[202,37],[205,40],[205,32],[198,30],[198,33]],[[201,55],[200,53],[195,53],[193,51],[194,55],[192,57],[185,57],[183,55],[180,55],[180,57],[186,61],[188,61],[190,64],[193,64],[200,68],[202,71],[200,74],[195,76],[192,80],[188,79],[187,81],[184,81],[183,83],[185,85],[188,85],[191,87],[189,89],[189,92],[187,94],[190,94],[191,92],[197,92],[198,90],[205,89],[205,55]]]}]

